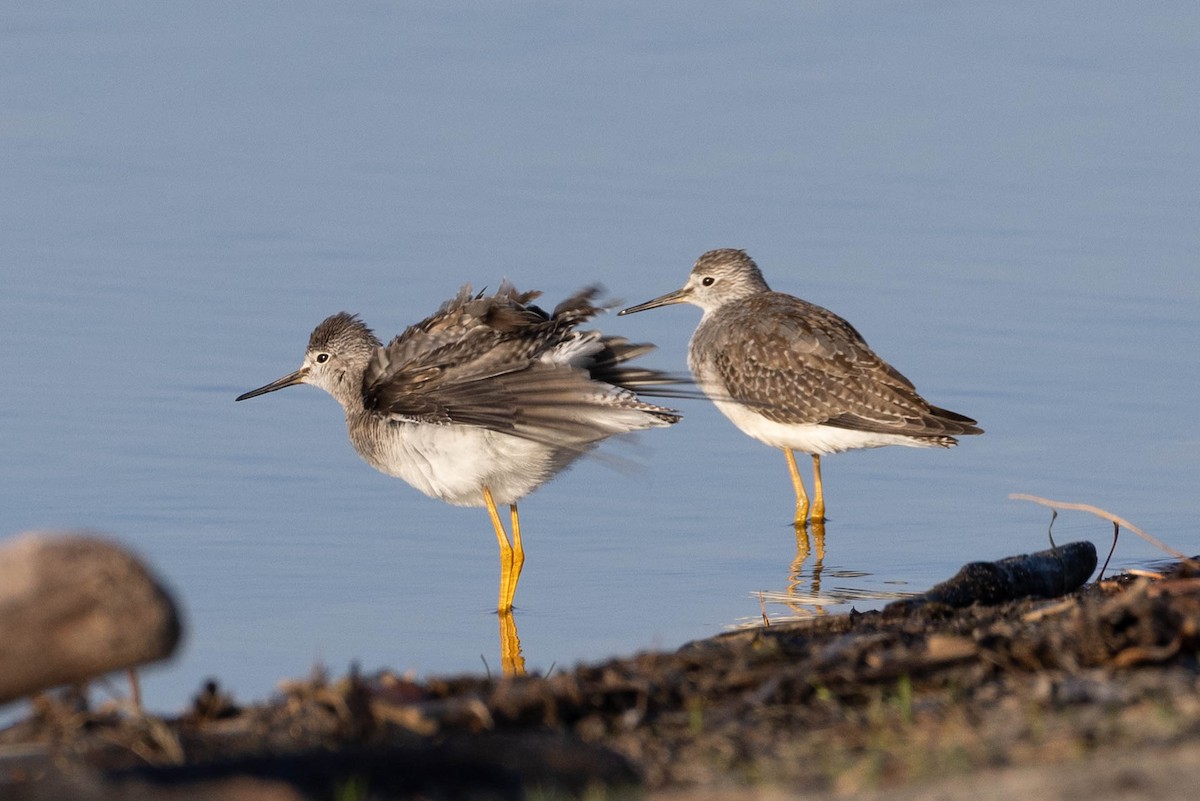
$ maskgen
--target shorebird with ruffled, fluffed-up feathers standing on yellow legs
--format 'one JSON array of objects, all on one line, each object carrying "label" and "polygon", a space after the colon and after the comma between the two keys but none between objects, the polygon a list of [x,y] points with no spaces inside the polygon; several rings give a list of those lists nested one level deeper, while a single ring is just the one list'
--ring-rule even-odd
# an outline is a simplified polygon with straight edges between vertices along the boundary
[{"label": "shorebird with ruffled, fluffed-up feathers standing on yellow legs", "polygon": [[678,383],[626,365],[654,345],[577,329],[604,311],[598,293],[583,289],[547,314],[530,302],[538,291],[467,285],[386,347],[341,312],[312,332],[300,369],[238,401],[318,386],[342,405],[354,450],[376,470],[448,504],[486,507],[500,547],[498,610],[509,613],[524,564],[517,501],[601,440],[680,418],[637,396],[670,396],[665,385]]}]

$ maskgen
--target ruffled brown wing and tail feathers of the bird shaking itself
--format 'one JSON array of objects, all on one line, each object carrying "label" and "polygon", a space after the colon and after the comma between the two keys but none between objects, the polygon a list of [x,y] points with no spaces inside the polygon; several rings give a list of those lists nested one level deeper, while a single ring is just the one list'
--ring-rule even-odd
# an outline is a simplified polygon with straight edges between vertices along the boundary
[{"label": "ruffled brown wing and tail feathers of the bird shaking itself", "polygon": [[575,330],[602,311],[598,291],[583,289],[547,314],[530,303],[536,293],[464,287],[376,351],[364,403],[397,422],[480,426],[556,445],[674,422],[676,412],[634,392],[674,379],[624,367],[652,347]]}]

